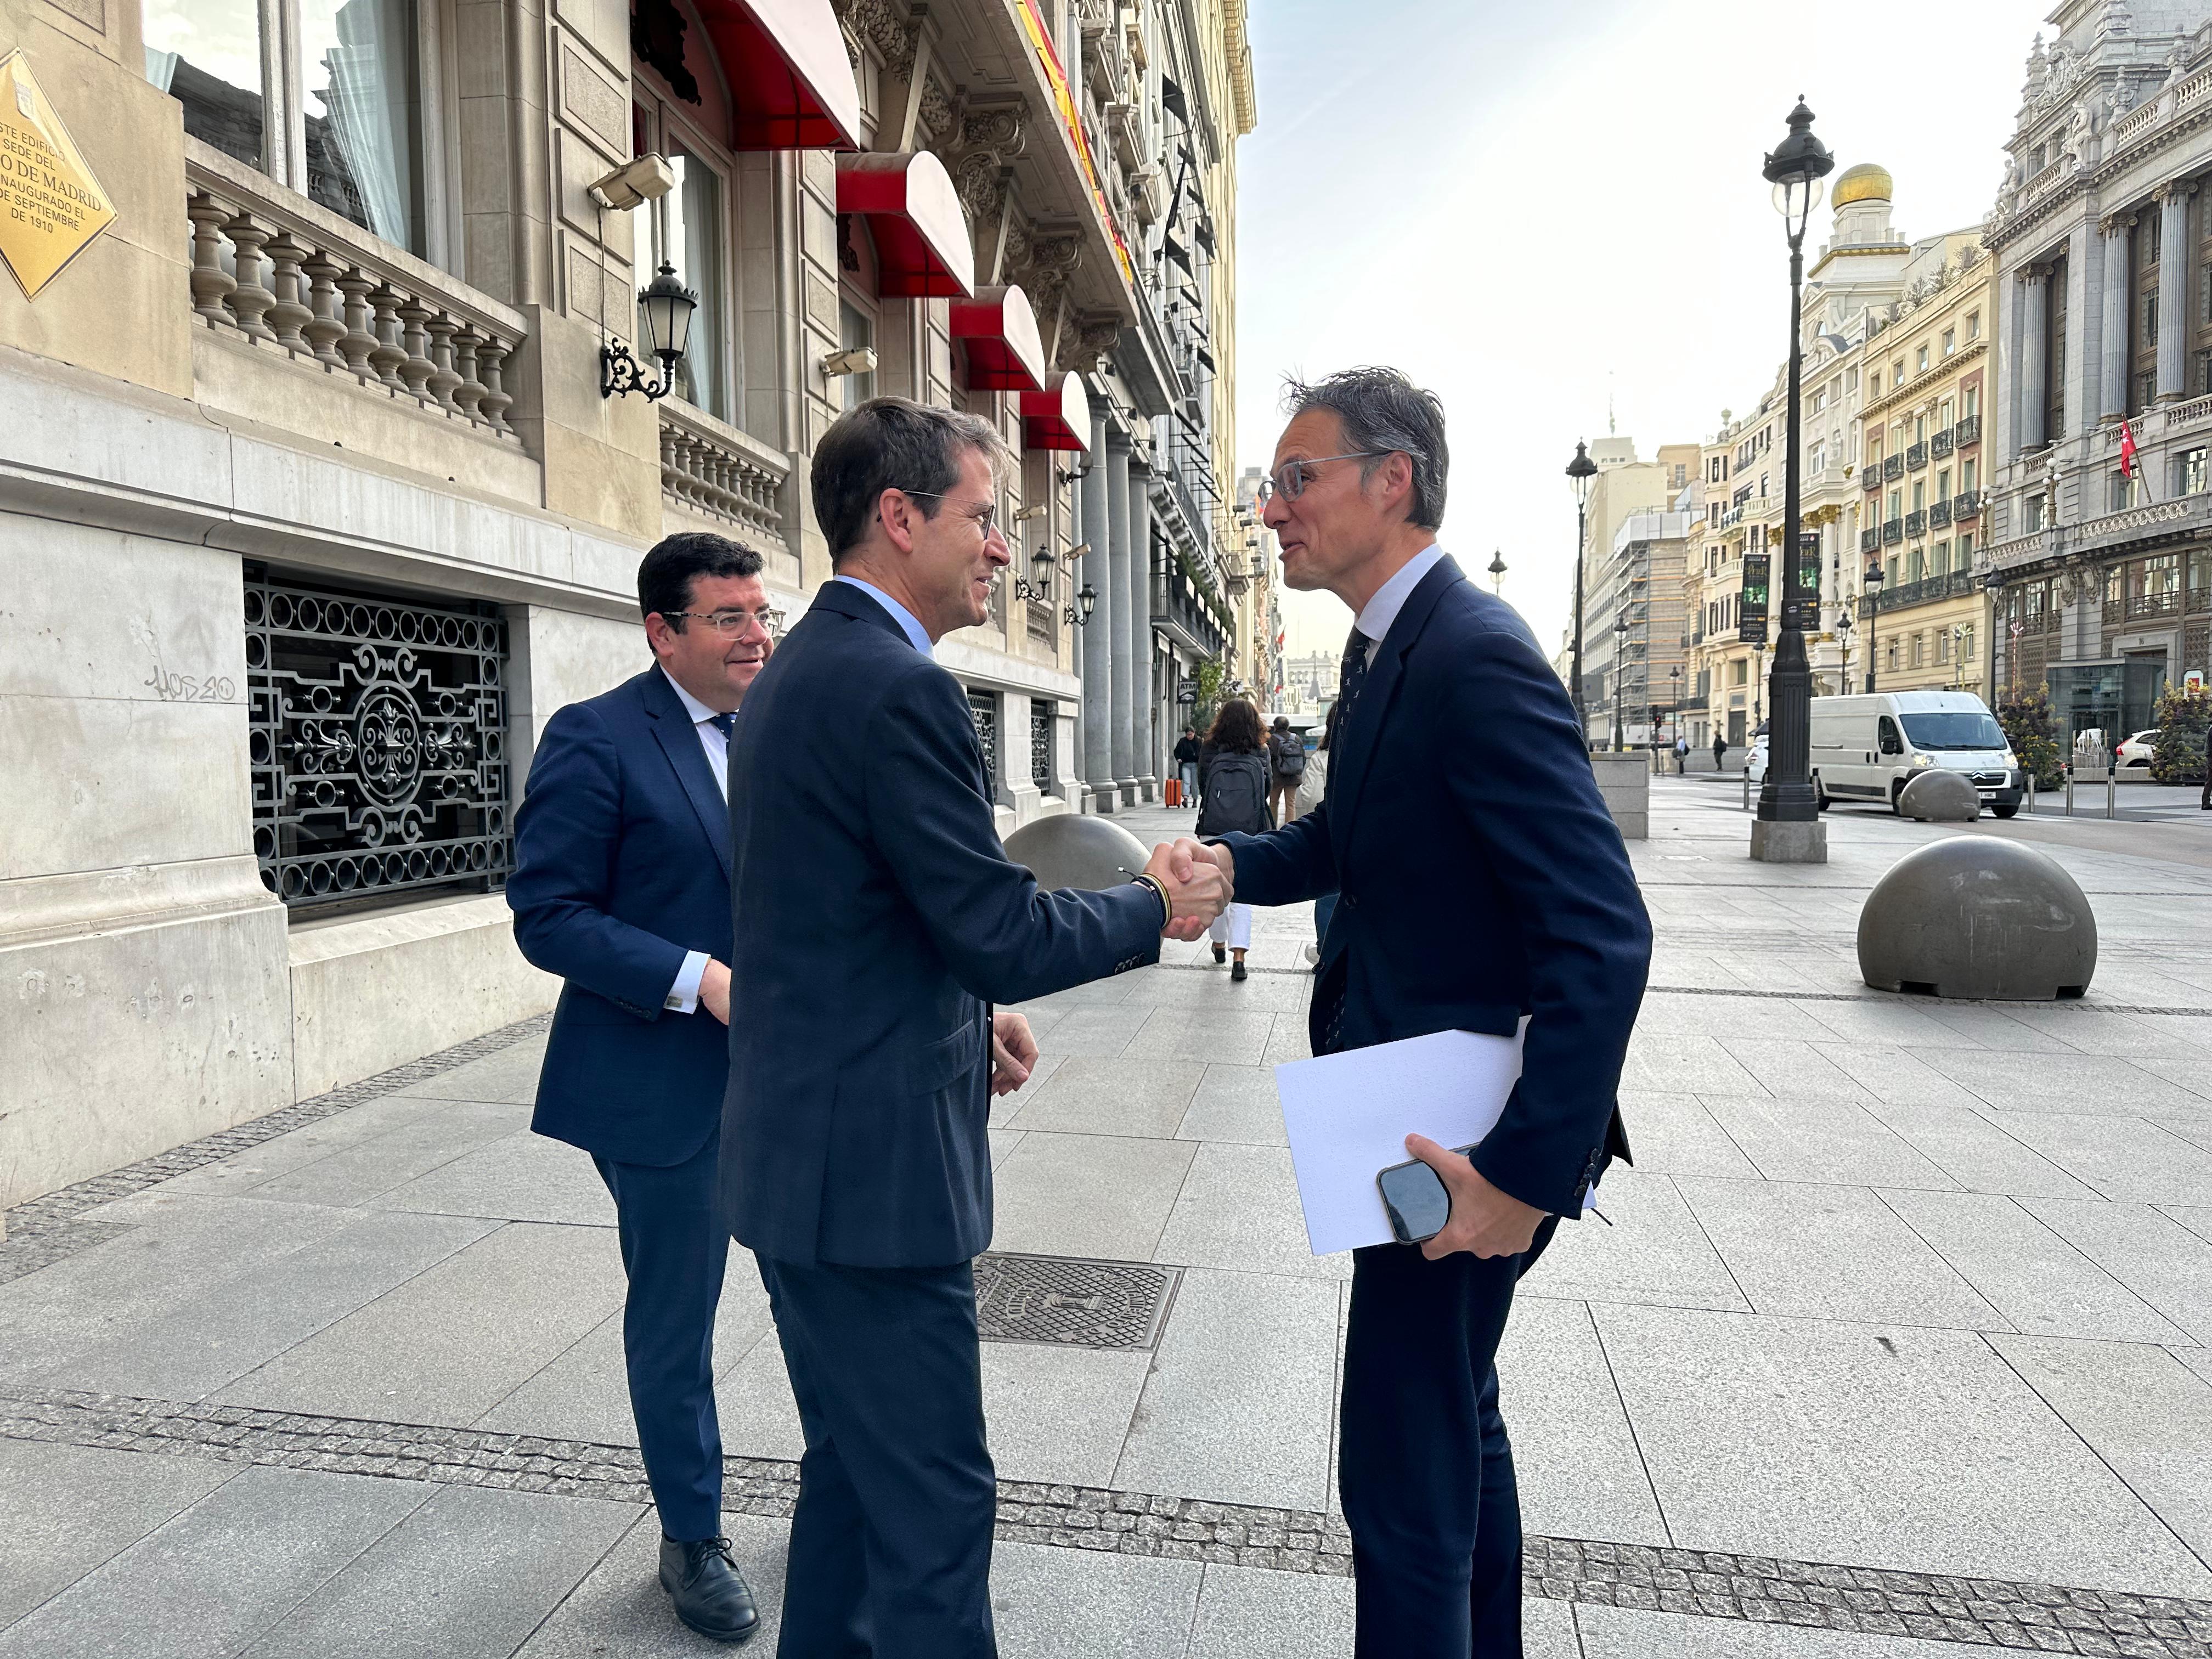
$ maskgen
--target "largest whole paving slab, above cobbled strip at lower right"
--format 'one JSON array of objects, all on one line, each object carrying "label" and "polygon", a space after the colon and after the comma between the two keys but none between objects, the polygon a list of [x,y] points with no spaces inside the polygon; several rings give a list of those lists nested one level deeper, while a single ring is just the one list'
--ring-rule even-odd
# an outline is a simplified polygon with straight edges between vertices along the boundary
[{"label": "largest whole paving slab, above cobbled strip at lower right", "polygon": [[2212,1573],[1975,1334],[1590,1312],[1679,1548],[2212,1593]]}]

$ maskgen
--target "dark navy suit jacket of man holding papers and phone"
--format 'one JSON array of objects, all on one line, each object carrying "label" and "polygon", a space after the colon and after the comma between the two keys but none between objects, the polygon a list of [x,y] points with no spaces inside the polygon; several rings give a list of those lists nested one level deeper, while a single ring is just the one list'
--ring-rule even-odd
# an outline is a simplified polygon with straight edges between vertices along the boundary
[{"label": "dark navy suit jacket of man holding papers and phone", "polygon": [[1343,894],[1321,942],[1316,1053],[1338,993],[1343,1048],[1509,1037],[1535,1015],[1473,1161],[1515,1199],[1579,1217],[1628,1157],[1615,1091],[1652,936],[1566,688],[1520,615],[1447,557],[1374,646],[1329,761],[1314,812],[1221,838],[1241,900]]}]

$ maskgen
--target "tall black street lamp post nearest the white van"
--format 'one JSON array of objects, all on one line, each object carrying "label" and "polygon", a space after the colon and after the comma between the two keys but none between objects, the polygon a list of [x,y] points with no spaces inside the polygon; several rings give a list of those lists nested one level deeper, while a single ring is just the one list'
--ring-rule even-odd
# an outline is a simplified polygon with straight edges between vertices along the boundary
[{"label": "tall black street lamp post nearest the white van", "polygon": [[1820,825],[1820,803],[1812,790],[1812,661],[1805,655],[1807,611],[1818,628],[1818,588],[1805,591],[1805,562],[1798,557],[1798,489],[1803,473],[1805,422],[1805,226],[1820,204],[1820,179],[1836,157],[1812,135],[1812,111],[1805,100],[1790,111],[1790,135],[1774,148],[1763,168],[1774,186],[1774,208],[1783,215],[1790,237],[1790,418],[1783,456],[1783,606],[1781,635],[1774,641],[1774,701],[1767,706],[1767,776],[1759,785],[1759,818],[1752,825],[1752,858],[1770,863],[1827,863],[1827,836]]}]

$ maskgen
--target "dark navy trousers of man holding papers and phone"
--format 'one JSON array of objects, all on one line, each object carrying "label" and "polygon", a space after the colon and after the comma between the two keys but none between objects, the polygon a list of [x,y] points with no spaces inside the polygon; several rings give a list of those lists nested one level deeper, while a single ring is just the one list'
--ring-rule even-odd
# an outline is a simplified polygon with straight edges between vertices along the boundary
[{"label": "dark navy trousers of man holding papers and phone", "polygon": [[1338,1491],[1358,1659],[1520,1659],[1522,1526],[1498,1338],[1526,1256],[1352,1254]]}]

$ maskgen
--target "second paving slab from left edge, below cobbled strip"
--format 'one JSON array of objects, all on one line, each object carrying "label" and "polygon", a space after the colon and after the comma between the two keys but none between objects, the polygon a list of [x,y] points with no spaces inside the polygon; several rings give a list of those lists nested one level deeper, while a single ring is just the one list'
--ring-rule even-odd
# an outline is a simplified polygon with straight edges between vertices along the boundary
[{"label": "second paving slab from left edge, below cobbled strip", "polygon": [[0,1659],[228,1659],[436,1493],[416,1480],[246,1469],[11,1624]]}]

